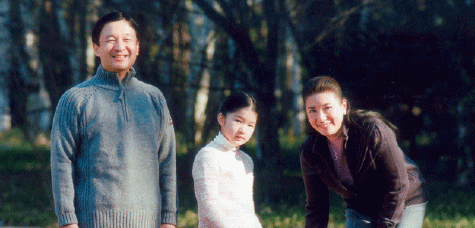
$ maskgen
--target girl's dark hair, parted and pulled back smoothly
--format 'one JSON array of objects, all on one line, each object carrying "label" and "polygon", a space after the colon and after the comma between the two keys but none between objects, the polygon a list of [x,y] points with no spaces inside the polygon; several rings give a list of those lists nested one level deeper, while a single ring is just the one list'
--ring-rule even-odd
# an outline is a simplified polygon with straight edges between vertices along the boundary
[{"label": "girl's dark hair, parted and pulled back smoothly", "polygon": [[228,113],[236,112],[241,108],[249,108],[257,113],[256,99],[252,95],[242,91],[234,92],[221,103],[219,113],[226,116]]}]

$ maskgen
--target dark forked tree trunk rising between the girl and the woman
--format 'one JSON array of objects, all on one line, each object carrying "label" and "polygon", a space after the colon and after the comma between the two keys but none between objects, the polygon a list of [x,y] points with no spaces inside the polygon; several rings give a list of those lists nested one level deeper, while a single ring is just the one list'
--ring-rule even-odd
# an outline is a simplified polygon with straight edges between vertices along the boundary
[{"label": "dark forked tree trunk rising between the girl and the woman", "polygon": [[263,177],[267,202],[281,195],[282,162],[279,148],[279,113],[276,109],[276,62],[280,15],[284,1],[195,0],[216,25],[226,31],[242,53],[250,77],[239,83],[254,91],[261,103],[257,128],[258,148],[265,164]]}]

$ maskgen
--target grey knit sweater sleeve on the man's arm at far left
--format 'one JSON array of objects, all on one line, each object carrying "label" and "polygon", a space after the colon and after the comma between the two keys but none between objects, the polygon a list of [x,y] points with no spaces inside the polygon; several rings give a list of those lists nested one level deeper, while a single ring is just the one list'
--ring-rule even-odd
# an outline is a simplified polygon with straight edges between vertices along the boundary
[{"label": "grey knit sweater sleeve on the man's arm at far left", "polygon": [[71,91],[59,100],[51,129],[51,181],[58,227],[77,224],[74,208],[74,160],[79,111]]}]

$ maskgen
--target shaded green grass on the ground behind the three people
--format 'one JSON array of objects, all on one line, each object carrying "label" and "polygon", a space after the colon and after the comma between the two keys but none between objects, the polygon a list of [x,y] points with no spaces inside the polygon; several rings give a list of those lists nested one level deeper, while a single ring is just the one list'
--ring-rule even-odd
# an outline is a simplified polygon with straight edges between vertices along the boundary
[{"label": "shaded green grass on the ground behind the three people", "polygon": [[[285,161],[282,200],[278,205],[262,203],[256,197],[257,215],[264,228],[304,227],[305,194],[300,173],[298,148],[303,137],[282,137],[281,152]],[[245,151],[253,159],[255,145],[248,143]],[[187,162],[186,152],[180,152],[179,164]],[[256,162],[256,166],[258,166]],[[457,187],[442,174],[447,171],[444,163],[420,162],[429,190],[429,203],[424,228],[475,227],[475,188]],[[256,172],[259,172],[257,167]],[[258,176],[259,173],[256,173]],[[24,142],[17,130],[0,135],[0,222],[13,226],[54,227],[56,215],[52,203],[49,174],[49,150],[32,147]],[[198,224],[196,199],[192,182],[178,180],[180,213],[179,227],[194,228]],[[255,191],[262,186],[255,183]],[[330,196],[330,228],[344,227],[344,202],[332,193]]]}]

